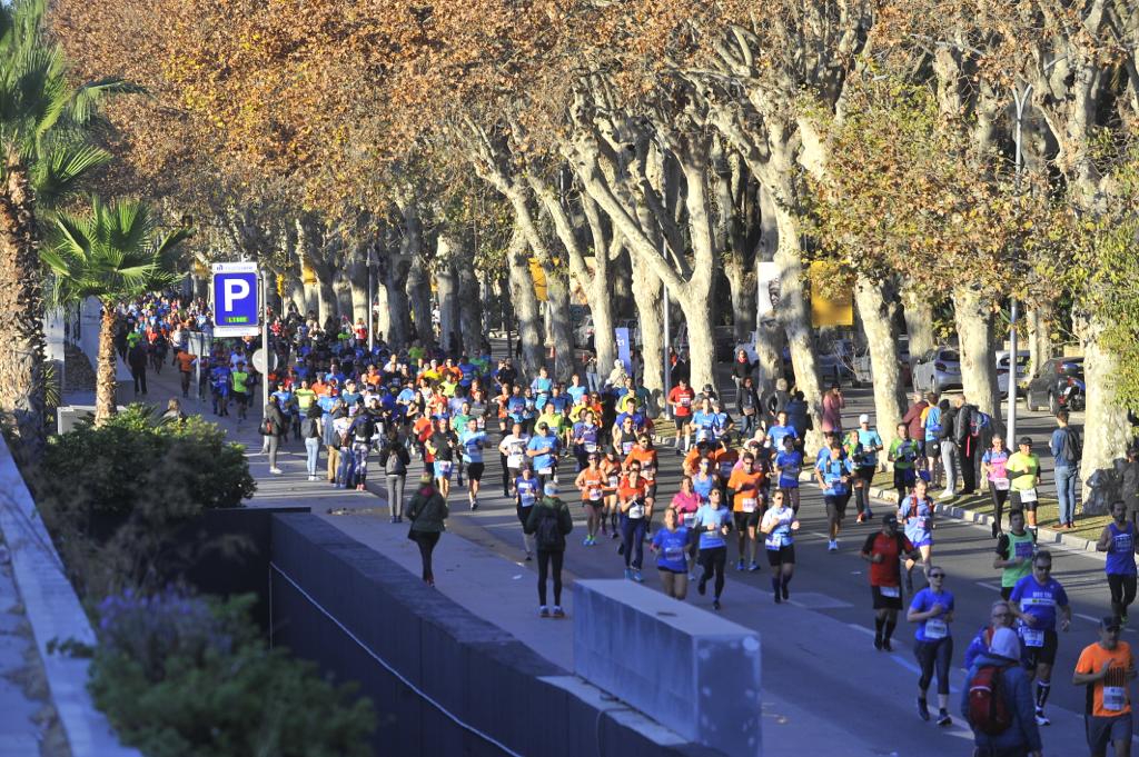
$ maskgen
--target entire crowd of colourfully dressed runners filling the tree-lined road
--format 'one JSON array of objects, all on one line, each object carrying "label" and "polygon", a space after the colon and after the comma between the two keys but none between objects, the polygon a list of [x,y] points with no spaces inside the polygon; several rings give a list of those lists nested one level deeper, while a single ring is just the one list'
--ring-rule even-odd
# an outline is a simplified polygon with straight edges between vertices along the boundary
[{"label": "entire crowd of colourfully dressed runners filling the tree-lined road", "polygon": [[[137,392],[146,393],[148,368],[171,365],[180,372],[185,396],[208,394],[215,415],[233,413],[240,421],[256,406],[261,381],[268,381],[268,405],[253,419],[260,422],[271,472],[281,472],[277,453],[290,439],[305,446],[310,482],[367,491],[374,463],[386,484],[392,523],[421,512],[427,502],[441,502],[435,507],[445,518],[448,504],[459,496],[477,510],[487,455],[497,454],[501,477],[489,485],[514,502],[522,556],[536,560],[541,617],[565,615],[560,574],[575,520],[584,526],[585,546],[617,542],[616,569],[628,579],[644,581],[647,548],[669,595],[683,600],[695,582],[702,595],[711,587],[719,610],[732,563],[739,571],[761,571],[765,562],[772,601],[789,599],[801,486],[813,483],[822,492],[830,552],[839,550],[853,499],[855,521],[879,526],[859,540],[858,550],[870,563],[874,647],[892,651],[898,615],[906,609],[921,670],[917,711],[931,719],[927,691],[936,677],[939,725],[952,723],[949,670],[958,608],[945,570],[934,560],[931,489],[943,486],[940,496],[948,497],[986,488],[994,505],[993,570],[1000,573],[1002,600],[965,655],[969,681],[989,681],[989,689],[970,683],[961,711],[977,733],[978,749],[990,750],[981,754],[1041,750],[1039,726],[1050,723],[1046,705],[1057,631],[1067,630],[1071,609],[1064,587],[1050,576],[1051,554],[1036,546],[1040,460],[1029,437],[1009,453],[992,433],[992,419],[964,396],[952,402],[915,396],[887,447],[868,415],[857,428],[843,427],[845,400],[835,386],[822,400],[825,443],[806,450],[805,403],[784,380],[761,397],[749,371],[737,370],[737,401],[729,408],[713,387],[697,390],[678,370],[675,386],[663,398],[675,433],[662,449],[652,394],[620,362],[601,380],[574,375],[563,382],[544,368],[525,380],[511,360],[492,360],[489,344],[474,355],[443,354],[418,343],[400,353],[383,342],[369,349],[364,323],[329,319],[320,324],[311,313],[293,311],[271,318],[270,347],[279,368],[262,379],[251,367],[252,339],[212,340],[207,354],[190,352],[189,335],[208,331],[204,303],[154,296],[124,306],[122,315],[116,343]],[[1067,420],[1058,413],[1049,444],[1057,468],[1080,456],[1080,436]],[[665,454],[681,458],[675,492],[659,483]],[[424,472],[408,497],[412,460],[421,461]],[[870,488],[885,463],[893,470],[890,488],[899,504],[876,517]],[[1065,501],[1060,493],[1062,527],[1073,523],[1071,496]],[[1107,553],[1113,615],[1101,624],[1100,642],[1081,655],[1074,677],[1095,694],[1089,694],[1088,714],[1093,755],[1105,754],[1108,742],[1116,755],[1128,754],[1121,751],[1124,733],[1130,743],[1126,682],[1134,666],[1118,633],[1136,596],[1136,515],[1131,502],[1115,504],[1097,544]],[[412,525],[413,538],[431,542],[420,549],[424,579],[432,584],[431,549],[441,529],[442,519],[433,538],[421,530],[416,537]],[[993,669],[1003,673],[1003,688],[992,684]],[[1023,697],[1015,697],[1030,690],[1025,709]],[[1001,698],[1010,698],[1008,707],[997,707]],[[986,706],[993,723],[978,729]]]}]

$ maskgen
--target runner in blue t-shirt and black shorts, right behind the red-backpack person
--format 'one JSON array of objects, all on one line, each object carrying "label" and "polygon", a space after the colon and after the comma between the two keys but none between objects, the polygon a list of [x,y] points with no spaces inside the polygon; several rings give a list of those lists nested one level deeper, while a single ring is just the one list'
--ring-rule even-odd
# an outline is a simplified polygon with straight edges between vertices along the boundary
[{"label": "runner in blue t-shirt and black shorts, right behind the red-backpack person", "polygon": [[1060,630],[1072,625],[1072,608],[1067,592],[1052,578],[1052,554],[1048,550],[1036,552],[1032,561],[1032,575],[1016,582],[1009,596],[1013,615],[1021,622],[1018,633],[1029,648],[1029,659],[1036,668],[1036,724],[1050,725],[1044,716],[1044,705],[1051,691],[1052,665],[1056,663],[1056,616],[1059,608]]}]

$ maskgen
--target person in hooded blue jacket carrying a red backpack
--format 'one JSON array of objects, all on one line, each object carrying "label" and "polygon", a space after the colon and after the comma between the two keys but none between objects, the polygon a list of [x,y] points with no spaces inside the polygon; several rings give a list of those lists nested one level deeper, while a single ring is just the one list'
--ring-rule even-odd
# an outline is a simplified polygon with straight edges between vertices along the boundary
[{"label": "person in hooded blue jacket carrying a red backpack", "polygon": [[961,688],[961,715],[973,730],[978,757],[1042,757],[1040,726],[1033,717],[1032,682],[1017,660],[1019,642],[1011,628],[993,632]]}]

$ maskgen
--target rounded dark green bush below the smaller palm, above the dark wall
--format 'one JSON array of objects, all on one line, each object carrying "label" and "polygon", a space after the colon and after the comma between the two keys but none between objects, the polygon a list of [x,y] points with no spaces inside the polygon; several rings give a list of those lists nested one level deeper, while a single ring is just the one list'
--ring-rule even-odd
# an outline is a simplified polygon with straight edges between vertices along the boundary
[{"label": "rounded dark green bush below the smaller palm, above the dark wall", "polygon": [[208,551],[243,549],[240,540],[199,543],[179,532],[256,488],[243,447],[214,423],[163,422],[146,405],[51,438],[33,480],[72,583],[91,600],[126,586],[153,591]]}]

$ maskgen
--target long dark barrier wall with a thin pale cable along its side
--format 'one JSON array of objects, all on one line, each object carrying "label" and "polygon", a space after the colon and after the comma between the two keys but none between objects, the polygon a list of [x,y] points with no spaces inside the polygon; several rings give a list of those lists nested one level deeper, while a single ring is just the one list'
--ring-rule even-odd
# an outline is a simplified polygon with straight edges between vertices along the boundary
[{"label": "long dark barrier wall with a thin pale cable along its side", "polygon": [[[712,757],[320,518],[272,520],[271,639],[357,681],[376,755]],[[669,732],[664,732],[667,734]]]}]

